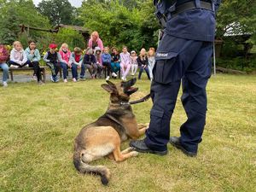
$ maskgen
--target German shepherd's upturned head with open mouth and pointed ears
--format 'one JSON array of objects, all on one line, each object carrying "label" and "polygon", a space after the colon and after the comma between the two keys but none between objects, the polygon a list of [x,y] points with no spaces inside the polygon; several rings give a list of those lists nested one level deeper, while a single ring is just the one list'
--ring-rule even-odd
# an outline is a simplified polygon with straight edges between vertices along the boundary
[{"label": "German shepherd's upturned head with open mouth and pointed ears", "polygon": [[129,81],[121,81],[118,84],[113,84],[107,80],[108,84],[102,84],[102,88],[110,93],[110,99],[112,102],[125,102],[129,101],[131,94],[135,93],[138,88],[133,87],[137,79],[131,79]]}]

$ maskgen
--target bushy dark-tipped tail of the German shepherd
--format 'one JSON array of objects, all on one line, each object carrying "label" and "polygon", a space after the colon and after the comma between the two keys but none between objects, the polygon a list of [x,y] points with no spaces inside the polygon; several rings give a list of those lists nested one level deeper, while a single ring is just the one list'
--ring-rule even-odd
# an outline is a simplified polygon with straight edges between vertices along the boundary
[{"label": "bushy dark-tipped tail of the German shepherd", "polygon": [[81,159],[81,153],[75,151],[73,154],[73,164],[79,172],[82,173],[94,173],[102,177],[102,184],[107,185],[110,172],[106,166],[90,166]]}]

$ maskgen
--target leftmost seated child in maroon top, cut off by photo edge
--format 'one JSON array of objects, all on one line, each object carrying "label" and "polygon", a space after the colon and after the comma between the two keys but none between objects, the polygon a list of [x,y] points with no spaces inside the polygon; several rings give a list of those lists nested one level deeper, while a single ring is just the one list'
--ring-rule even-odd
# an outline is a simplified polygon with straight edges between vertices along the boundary
[{"label": "leftmost seated child in maroon top, cut off by photo edge", "polygon": [[7,87],[7,79],[9,73],[9,67],[6,64],[6,61],[9,59],[9,51],[8,49],[0,44],[0,68],[3,69],[3,87]]}]

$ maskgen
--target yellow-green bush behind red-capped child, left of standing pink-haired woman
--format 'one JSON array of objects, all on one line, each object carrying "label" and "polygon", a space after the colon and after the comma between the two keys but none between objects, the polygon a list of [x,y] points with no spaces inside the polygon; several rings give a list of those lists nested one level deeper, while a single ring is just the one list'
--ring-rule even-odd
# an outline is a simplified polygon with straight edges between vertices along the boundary
[{"label": "yellow-green bush behind red-capped child, left of standing pink-haired woman", "polygon": [[67,43],[69,49],[73,50],[75,47],[84,49],[84,37],[77,31],[71,28],[61,28],[58,33],[55,34],[55,43],[61,46],[63,43]]}]

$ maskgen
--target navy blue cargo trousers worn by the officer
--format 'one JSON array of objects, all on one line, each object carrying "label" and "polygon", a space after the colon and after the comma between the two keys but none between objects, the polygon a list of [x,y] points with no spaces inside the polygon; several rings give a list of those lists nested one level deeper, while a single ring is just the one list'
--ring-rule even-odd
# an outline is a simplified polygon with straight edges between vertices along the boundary
[{"label": "navy blue cargo trousers worn by the officer", "polygon": [[212,43],[164,35],[156,51],[151,84],[153,107],[145,143],[154,150],[166,150],[170,121],[182,84],[181,97],[187,120],[180,127],[180,142],[197,152],[206,124],[207,81],[211,76]]}]

